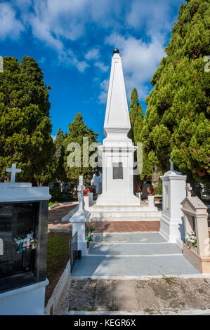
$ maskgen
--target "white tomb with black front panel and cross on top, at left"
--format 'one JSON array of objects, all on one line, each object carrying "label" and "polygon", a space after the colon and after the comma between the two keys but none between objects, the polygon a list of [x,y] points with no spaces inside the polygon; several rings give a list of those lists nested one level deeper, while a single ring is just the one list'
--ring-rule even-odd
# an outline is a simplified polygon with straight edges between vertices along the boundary
[{"label": "white tomb with black front panel and cross on top, at left", "polygon": [[[48,187],[0,183],[0,315],[44,315]],[[32,233],[33,232],[33,233]],[[33,234],[34,245],[19,246],[15,237]],[[32,241],[31,241],[32,242]],[[2,252],[2,253],[1,253]]]}]

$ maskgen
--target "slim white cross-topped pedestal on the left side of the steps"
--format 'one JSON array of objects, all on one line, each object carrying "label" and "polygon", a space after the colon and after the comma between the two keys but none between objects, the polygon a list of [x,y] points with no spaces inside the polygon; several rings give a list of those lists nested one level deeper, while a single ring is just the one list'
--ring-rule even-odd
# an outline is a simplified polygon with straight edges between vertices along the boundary
[{"label": "slim white cross-topped pedestal on the left side of the steps", "polygon": [[79,185],[77,191],[79,192],[79,210],[74,213],[74,216],[70,218],[72,223],[72,237],[77,232],[78,250],[81,250],[81,255],[86,256],[87,242],[86,242],[86,221],[88,218],[88,211],[84,209],[84,185],[83,176],[79,176]]}]

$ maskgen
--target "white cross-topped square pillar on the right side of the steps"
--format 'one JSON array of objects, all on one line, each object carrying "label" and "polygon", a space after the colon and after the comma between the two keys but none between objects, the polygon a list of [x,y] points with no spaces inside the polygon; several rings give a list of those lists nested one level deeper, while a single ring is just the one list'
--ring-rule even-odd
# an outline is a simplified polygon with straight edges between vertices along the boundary
[{"label": "white cross-topped square pillar on the right side of the steps", "polygon": [[185,240],[184,219],[180,203],[186,197],[186,176],[173,169],[171,161],[170,171],[161,176],[163,212],[160,223],[160,234],[171,243],[181,248]]}]

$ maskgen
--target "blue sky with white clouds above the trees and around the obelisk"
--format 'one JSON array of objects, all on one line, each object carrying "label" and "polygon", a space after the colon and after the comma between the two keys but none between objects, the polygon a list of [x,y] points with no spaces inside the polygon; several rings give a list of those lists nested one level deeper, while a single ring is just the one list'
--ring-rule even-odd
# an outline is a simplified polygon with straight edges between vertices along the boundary
[{"label": "blue sky with white clouds above the trees and around the obelisk", "polygon": [[52,136],[77,112],[103,140],[112,50],[122,55],[128,103],[145,112],[150,80],[184,0],[0,0],[0,55],[36,60],[51,85]]}]

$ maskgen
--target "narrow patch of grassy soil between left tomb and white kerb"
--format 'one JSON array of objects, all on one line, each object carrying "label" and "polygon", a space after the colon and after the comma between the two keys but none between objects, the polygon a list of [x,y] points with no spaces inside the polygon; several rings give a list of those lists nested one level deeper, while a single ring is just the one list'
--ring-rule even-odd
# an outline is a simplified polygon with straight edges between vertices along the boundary
[{"label": "narrow patch of grassy soil between left tomb and white kerb", "polygon": [[49,232],[47,240],[46,277],[49,281],[46,286],[45,306],[63,274],[70,259],[71,232]]}]

